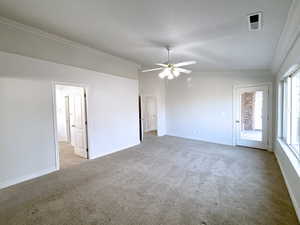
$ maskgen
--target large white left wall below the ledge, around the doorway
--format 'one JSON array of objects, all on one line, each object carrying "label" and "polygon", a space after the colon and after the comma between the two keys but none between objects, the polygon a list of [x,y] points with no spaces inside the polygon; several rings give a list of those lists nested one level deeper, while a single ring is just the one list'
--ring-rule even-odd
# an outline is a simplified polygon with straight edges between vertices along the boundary
[{"label": "large white left wall below the ledge, around the doorway", "polygon": [[138,81],[0,52],[0,188],[53,171],[53,81],[87,88],[91,158],[139,143]]}]

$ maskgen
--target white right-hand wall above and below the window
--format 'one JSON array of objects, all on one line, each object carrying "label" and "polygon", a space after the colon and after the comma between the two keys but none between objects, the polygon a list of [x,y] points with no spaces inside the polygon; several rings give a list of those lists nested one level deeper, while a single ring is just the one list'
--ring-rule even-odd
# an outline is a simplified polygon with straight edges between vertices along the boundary
[{"label": "white right-hand wall above and below the window", "polygon": [[[300,64],[300,1],[295,0],[290,9],[289,17],[279,42],[277,54],[274,57],[273,71],[277,72],[277,93],[279,81],[293,65]],[[280,102],[277,99],[277,106]],[[281,105],[279,105],[281,107]],[[280,122],[277,115],[277,121]],[[276,124],[277,125],[277,124]],[[277,137],[277,136],[276,136]],[[281,166],[290,196],[293,200],[300,221],[300,165],[299,161],[282,147],[280,142],[275,143],[275,154]],[[297,162],[297,163],[292,163]]]}]

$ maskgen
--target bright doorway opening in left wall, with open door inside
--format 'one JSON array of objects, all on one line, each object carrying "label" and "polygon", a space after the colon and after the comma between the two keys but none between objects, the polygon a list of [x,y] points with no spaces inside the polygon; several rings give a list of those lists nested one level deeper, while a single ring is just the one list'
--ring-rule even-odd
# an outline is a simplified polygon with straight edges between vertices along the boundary
[{"label": "bright doorway opening in left wall, with open door inside", "polygon": [[88,158],[86,90],[84,87],[55,85],[58,164],[68,168]]}]

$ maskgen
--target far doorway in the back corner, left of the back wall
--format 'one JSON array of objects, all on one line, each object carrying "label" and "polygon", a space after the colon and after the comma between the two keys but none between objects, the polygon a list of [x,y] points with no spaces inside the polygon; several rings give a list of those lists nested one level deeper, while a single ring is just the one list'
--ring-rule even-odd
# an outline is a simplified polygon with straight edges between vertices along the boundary
[{"label": "far doorway in the back corner, left of the back wall", "polygon": [[155,96],[143,97],[143,133],[157,136],[157,100]]}]

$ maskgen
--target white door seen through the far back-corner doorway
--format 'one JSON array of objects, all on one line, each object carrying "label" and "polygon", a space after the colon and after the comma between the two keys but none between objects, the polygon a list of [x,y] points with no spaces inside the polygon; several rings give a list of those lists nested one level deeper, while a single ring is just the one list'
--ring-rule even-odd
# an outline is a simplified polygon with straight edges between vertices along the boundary
[{"label": "white door seen through the far back-corner doorway", "polygon": [[145,131],[157,130],[156,98],[148,96],[145,98]]}]

